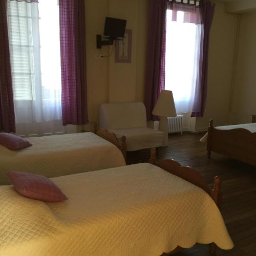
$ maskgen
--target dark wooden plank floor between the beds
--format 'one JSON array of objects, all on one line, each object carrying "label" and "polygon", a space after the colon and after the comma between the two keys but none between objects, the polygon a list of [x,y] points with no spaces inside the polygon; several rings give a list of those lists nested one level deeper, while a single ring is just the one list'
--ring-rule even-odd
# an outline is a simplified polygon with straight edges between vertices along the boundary
[{"label": "dark wooden plank floor between the beds", "polygon": [[[222,215],[233,240],[232,250],[218,249],[217,255],[256,255],[256,167],[212,153],[206,156],[206,145],[199,141],[202,134],[171,135],[168,147],[159,150],[158,159],[172,158],[182,165],[195,168],[212,185],[215,176],[222,179]],[[148,161],[150,150],[128,152],[127,163]],[[207,245],[198,245],[175,256],[206,256]]]}]

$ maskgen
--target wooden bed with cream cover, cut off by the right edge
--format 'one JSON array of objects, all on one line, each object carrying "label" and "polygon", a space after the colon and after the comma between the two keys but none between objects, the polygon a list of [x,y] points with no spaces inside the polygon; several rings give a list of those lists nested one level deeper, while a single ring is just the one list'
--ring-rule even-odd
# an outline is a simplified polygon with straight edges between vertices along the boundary
[{"label": "wooden bed with cream cover, cut off by the right edge", "polygon": [[256,122],[214,127],[210,120],[208,133],[200,141],[207,142],[208,158],[214,151],[256,166]]}]

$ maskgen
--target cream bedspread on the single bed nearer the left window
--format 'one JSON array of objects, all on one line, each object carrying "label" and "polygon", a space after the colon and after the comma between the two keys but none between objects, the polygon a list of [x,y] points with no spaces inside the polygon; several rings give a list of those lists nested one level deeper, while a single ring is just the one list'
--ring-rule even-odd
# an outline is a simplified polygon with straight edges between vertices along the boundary
[{"label": "cream bedspread on the single bed nearer the left window", "polygon": [[7,172],[58,177],[125,165],[121,151],[94,133],[27,138],[33,145],[12,151],[0,145],[0,185],[10,184]]}]

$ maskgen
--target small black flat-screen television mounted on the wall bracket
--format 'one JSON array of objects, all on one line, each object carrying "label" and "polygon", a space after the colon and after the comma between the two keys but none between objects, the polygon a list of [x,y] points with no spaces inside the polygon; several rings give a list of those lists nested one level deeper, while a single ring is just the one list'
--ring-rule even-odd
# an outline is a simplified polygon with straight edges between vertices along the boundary
[{"label": "small black flat-screen television mounted on the wall bracket", "polygon": [[112,38],[124,37],[125,27],[125,19],[106,17],[104,35]]}]

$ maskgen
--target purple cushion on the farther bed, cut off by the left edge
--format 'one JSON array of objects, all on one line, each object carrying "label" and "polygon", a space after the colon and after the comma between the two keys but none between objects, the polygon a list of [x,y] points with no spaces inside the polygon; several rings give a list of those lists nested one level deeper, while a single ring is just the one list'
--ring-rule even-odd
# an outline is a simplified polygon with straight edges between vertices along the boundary
[{"label": "purple cushion on the farther bed, cut off by the left edge", "polygon": [[10,133],[0,133],[0,144],[10,148],[10,150],[32,146],[29,141]]}]

